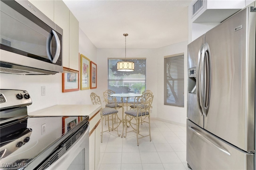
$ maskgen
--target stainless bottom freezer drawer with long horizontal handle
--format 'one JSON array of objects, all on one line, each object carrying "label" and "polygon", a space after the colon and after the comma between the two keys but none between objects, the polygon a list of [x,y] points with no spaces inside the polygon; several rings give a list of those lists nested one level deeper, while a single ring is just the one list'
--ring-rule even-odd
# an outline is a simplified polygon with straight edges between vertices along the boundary
[{"label": "stainless bottom freezer drawer with long horizontal handle", "polygon": [[253,158],[187,119],[187,162],[193,170],[252,170]]}]

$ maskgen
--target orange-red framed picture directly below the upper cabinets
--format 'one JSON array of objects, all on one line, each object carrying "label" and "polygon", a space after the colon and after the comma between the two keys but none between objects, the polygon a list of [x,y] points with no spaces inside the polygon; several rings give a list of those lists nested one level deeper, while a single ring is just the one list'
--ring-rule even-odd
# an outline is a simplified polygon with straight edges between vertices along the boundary
[{"label": "orange-red framed picture directly below the upper cabinets", "polygon": [[79,71],[63,68],[65,71],[62,73],[62,93],[79,90]]}]

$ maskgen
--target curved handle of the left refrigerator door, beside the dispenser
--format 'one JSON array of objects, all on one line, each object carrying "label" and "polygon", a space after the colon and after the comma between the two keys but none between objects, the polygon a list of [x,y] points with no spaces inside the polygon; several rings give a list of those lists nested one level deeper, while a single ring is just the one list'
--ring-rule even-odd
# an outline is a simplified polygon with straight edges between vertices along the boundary
[{"label": "curved handle of the left refrigerator door, beside the dispenser", "polygon": [[203,115],[202,113],[202,107],[200,105],[200,61],[202,58],[202,51],[203,51],[203,47],[204,45],[202,45],[198,51],[198,62],[197,62],[197,71],[196,71],[196,96],[197,96],[197,103],[198,103],[198,107],[200,108],[200,113],[201,115]]}]

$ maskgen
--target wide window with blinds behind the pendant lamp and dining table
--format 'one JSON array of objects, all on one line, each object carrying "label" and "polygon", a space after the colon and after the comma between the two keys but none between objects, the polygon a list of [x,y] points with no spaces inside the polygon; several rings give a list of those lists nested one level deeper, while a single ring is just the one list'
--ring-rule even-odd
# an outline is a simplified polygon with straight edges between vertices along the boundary
[{"label": "wide window with blinds behind the pendant lamp and dining table", "polygon": [[[134,62],[134,71],[117,71],[117,62],[123,59],[108,59],[108,89],[116,93],[142,93],[146,89],[146,59],[129,59]],[[130,99],[130,101],[134,101]]]}]

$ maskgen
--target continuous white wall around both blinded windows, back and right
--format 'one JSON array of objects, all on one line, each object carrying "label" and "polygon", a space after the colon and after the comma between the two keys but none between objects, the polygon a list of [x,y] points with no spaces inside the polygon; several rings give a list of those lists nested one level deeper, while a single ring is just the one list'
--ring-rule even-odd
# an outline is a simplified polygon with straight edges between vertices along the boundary
[{"label": "continuous white wall around both blinded windows, back and right", "polygon": [[[103,91],[108,89],[108,58],[124,57],[124,49],[97,49],[98,95],[103,99]],[[186,124],[187,89],[187,42],[176,43],[158,49],[126,49],[126,57],[146,57],[146,89],[154,94],[152,118]],[[174,107],[164,105],[164,56],[184,53],[184,105]],[[136,69],[136,68],[135,68]]]}]

